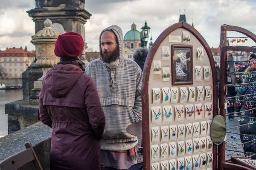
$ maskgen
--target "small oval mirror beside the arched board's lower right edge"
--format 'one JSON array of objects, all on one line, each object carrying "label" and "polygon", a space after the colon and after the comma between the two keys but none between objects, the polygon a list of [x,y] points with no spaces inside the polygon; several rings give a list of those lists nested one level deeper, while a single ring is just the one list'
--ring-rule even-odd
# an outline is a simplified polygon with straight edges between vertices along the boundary
[{"label": "small oval mirror beside the arched board's lower right edge", "polygon": [[223,116],[217,115],[212,119],[210,136],[214,144],[221,144],[226,136],[226,121]]}]

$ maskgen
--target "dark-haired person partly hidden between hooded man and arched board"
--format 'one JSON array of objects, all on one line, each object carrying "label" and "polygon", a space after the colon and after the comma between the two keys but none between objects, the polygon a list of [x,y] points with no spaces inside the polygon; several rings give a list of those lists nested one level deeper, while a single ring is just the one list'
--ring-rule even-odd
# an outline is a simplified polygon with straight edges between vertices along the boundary
[{"label": "dark-haired person partly hidden between hooded man and arched board", "polygon": [[138,48],[134,53],[134,61],[140,66],[143,71],[145,60],[148,56],[148,48]]}]

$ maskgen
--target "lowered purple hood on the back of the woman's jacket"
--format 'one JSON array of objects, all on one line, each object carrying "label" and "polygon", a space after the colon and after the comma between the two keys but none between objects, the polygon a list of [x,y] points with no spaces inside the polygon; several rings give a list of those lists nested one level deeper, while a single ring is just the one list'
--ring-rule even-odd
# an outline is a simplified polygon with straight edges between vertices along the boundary
[{"label": "lowered purple hood on the back of the woman's jacket", "polygon": [[53,65],[44,78],[47,91],[55,98],[66,96],[82,74],[76,65]]}]

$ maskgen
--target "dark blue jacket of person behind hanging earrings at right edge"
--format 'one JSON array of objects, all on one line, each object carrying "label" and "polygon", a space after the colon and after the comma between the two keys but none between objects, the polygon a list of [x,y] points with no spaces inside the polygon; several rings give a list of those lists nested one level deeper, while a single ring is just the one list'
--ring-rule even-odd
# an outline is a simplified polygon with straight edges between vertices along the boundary
[{"label": "dark blue jacket of person behind hanging earrings at right edge", "polygon": [[[256,71],[256,67],[253,67],[253,66],[248,67],[245,72],[252,72],[252,71]],[[256,77],[252,77],[252,80],[250,80],[249,78],[244,79],[244,83],[248,83],[248,82],[256,82]],[[248,85],[246,85],[246,86],[248,86]],[[242,89],[239,90],[239,92],[237,93],[236,96],[241,96],[241,95],[246,95],[246,94],[253,94],[256,91],[256,87],[250,87],[250,88],[242,87],[242,88],[244,88],[245,90],[244,91]],[[253,90],[253,92],[251,92],[249,90]],[[239,100],[255,101],[255,98],[253,98],[253,96],[254,95],[249,95],[248,96],[249,99],[246,99],[247,96],[241,96],[241,97],[239,97]],[[245,105],[250,105],[251,104],[252,108],[255,108],[256,107],[255,103],[241,102],[241,104],[242,104],[241,106],[237,106],[237,105],[234,104],[236,112],[244,111],[244,113],[245,113],[244,115],[241,115],[241,113],[238,113],[238,115],[241,116],[241,118],[242,118],[242,116],[249,116],[249,117],[255,117],[256,118],[255,111],[254,111],[254,113],[250,113],[250,111],[247,111],[249,108],[246,109],[244,107]],[[244,126],[241,126],[239,128],[240,133],[256,136],[256,123],[252,124],[251,127],[248,128],[248,125],[245,125],[245,124],[247,124],[250,121],[250,119],[249,118],[244,118],[244,117],[243,117],[243,119],[244,119],[243,122],[240,121],[240,125],[244,125]],[[253,121],[255,121],[255,119],[253,119]],[[248,136],[249,140],[244,140],[243,139],[244,135],[240,135],[241,142],[244,143],[244,142],[251,141],[251,140],[253,140],[253,136]],[[252,145],[251,142],[245,143],[244,144],[244,151],[255,153],[256,152],[256,144]],[[253,155],[252,158],[256,159],[256,155]]]}]

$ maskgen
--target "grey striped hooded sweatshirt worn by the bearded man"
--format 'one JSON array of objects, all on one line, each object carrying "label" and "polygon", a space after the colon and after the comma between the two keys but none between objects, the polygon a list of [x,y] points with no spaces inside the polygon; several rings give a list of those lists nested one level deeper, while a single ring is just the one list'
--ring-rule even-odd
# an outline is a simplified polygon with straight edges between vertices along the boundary
[{"label": "grey striped hooded sweatshirt worn by the bearded man", "polygon": [[119,41],[119,64],[116,68],[109,70],[116,88],[110,86],[110,76],[101,59],[90,62],[86,67],[86,73],[94,79],[105,112],[106,126],[102,137],[102,146],[104,146],[102,149],[128,150],[134,147],[134,144],[120,143],[137,140],[137,137],[128,133],[126,128],[141,120],[142,71],[136,62],[123,57],[121,28],[111,26],[103,30],[102,33],[106,30],[113,30]]}]

